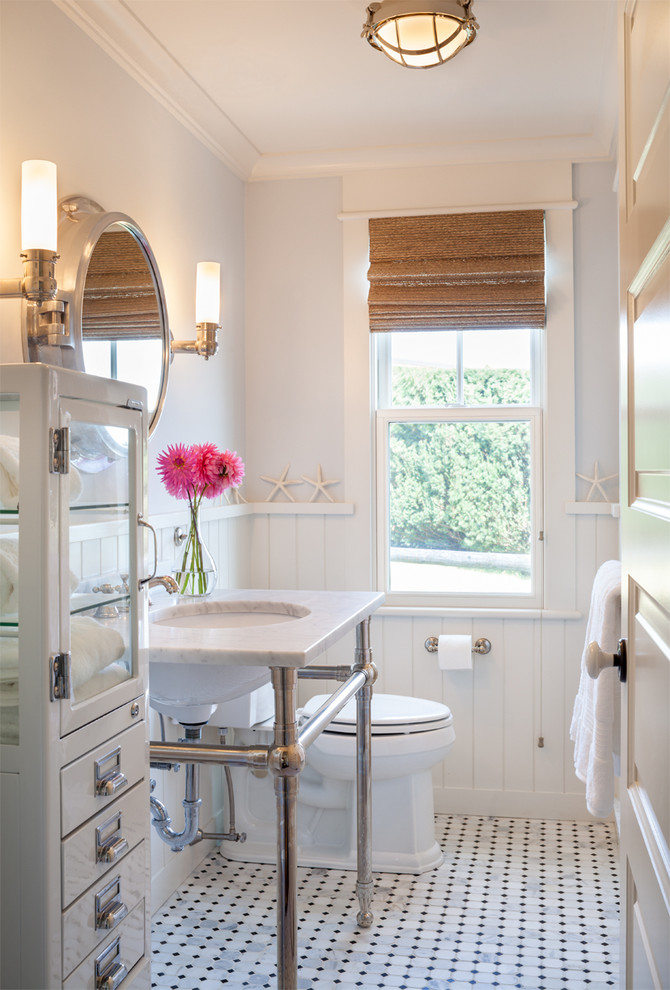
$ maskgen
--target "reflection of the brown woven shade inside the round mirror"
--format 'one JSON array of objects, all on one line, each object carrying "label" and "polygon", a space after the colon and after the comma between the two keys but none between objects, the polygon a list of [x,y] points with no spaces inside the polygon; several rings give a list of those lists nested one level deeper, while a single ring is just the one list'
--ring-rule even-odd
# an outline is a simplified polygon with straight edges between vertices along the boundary
[{"label": "reflection of the brown woven shade inside the round mirror", "polygon": [[106,230],[86,272],[82,333],[87,340],[161,337],[151,269],[141,244],[126,230]]}]

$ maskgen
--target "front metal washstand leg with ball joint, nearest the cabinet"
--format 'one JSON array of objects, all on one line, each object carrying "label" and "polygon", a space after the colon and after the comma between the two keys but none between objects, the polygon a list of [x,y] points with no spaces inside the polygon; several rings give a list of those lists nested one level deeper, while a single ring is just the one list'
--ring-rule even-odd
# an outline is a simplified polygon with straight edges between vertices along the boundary
[{"label": "front metal washstand leg with ball joint, nearest the cabinet", "polygon": [[274,742],[268,767],[277,804],[277,987],[298,986],[297,832],[298,780],[305,751],[296,724],[297,671],[271,667],[275,697]]}]

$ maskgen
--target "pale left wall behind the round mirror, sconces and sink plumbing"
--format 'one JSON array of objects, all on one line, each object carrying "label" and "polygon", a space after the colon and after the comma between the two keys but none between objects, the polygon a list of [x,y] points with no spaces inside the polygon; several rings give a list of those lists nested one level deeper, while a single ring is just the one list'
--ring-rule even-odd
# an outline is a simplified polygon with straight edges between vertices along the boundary
[{"label": "pale left wall behind the round mirror, sconces and sink plumbing", "polygon": [[[153,470],[163,446],[207,439],[245,450],[243,183],[52,3],[3,0],[0,17],[2,276],[22,274],[19,204],[21,162],[27,158],[56,162],[59,196],[84,194],[139,224],[156,255],[175,337],[194,336],[196,263],[221,262],[219,353],[208,362],[192,355],[175,358],[163,418],[149,444],[152,514],[183,509],[184,503],[162,491]],[[18,303],[0,301],[3,362],[23,360],[19,315]],[[168,563],[174,556],[172,529],[161,532],[161,556]],[[234,584],[235,561],[244,559],[234,536],[229,538],[228,526],[221,524],[212,527],[211,539],[224,581]],[[180,828],[183,772],[154,775]],[[203,823],[209,829],[223,806],[219,776],[202,773]],[[154,907],[209,847],[203,843],[177,856],[153,840]]]}]

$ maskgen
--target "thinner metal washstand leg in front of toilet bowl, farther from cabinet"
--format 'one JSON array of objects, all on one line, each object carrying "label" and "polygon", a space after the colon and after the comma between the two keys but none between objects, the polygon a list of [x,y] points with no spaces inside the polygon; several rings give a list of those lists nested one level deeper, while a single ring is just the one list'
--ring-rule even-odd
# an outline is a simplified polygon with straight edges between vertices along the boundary
[{"label": "thinner metal washstand leg in front of toilet bowl, farther from cabinet", "polygon": [[356,627],[356,652],[352,671],[362,670],[368,680],[356,695],[356,820],[358,841],[358,880],[356,893],[360,910],[356,920],[369,928],[372,915],[372,732],[370,706],[377,670],[370,649],[370,618]]}]

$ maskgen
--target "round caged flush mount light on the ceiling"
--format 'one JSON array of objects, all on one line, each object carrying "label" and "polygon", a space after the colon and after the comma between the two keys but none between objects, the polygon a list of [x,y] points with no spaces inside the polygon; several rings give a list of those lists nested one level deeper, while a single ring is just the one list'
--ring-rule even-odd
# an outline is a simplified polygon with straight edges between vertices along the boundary
[{"label": "round caged flush mount light on the ceiling", "polygon": [[475,40],[472,0],[382,0],[371,3],[362,37],[409,69],[430,69]]}]

